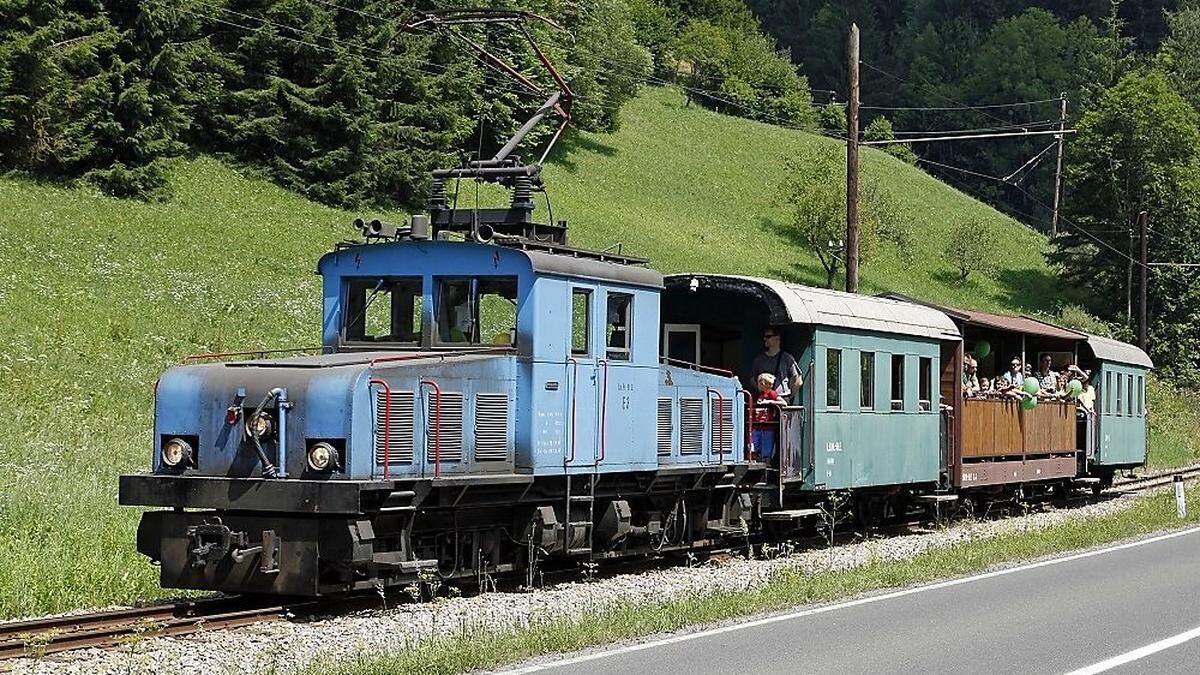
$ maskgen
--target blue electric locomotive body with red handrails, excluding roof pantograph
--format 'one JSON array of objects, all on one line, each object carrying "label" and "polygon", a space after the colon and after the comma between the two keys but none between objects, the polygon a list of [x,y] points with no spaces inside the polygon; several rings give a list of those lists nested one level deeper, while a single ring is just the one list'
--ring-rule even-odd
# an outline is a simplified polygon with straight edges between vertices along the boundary
[{"label": "blue electric locomotive body with red handrails, excluding roof pantograph", "polygon": [[[326,353],[161,377],[154,472],[121,501],[173,510],[145,514],[139,550],[167,586],[317,595],[737,528],[745,504],[710,489],[752,470],[739,383],[660,363],[662,276],[634,263],[420,238],[329,253]],[[684,432],[660,438],[665,417]]]}]

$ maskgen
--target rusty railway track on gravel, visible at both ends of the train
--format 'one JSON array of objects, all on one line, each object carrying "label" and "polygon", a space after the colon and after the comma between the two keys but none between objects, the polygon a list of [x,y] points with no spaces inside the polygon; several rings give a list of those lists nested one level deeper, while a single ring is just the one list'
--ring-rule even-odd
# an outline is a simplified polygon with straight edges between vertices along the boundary
[{"label": "rusty railway track on gravel, visible at both ends of the train", "polygon": [[[1200,465],[1129,478],[1114,484],[1108,491],[1132,494],[1151,490],[1171,484],[1175,476],[1182,476],[1186,480],[1198,479],[1200,478]],[[894,533],[899,534],[902,531],[896,530]],[[716,557],[721,555],[720,551],[707,552]],[[660,561],[654,563],[661,565]],[[616,567],[624,568],[619,562]],[[606,573],[608,572],[612,569],[606,571]],[[11,621],[0,623],[0,661],[22,657],[40,658],[70,650],[113,647],[146,638],[190,635],[205,631],[236,628],[298,616],[354,611],[378,605],[379,598],[377,596],[296,602],[233,596]]]}]

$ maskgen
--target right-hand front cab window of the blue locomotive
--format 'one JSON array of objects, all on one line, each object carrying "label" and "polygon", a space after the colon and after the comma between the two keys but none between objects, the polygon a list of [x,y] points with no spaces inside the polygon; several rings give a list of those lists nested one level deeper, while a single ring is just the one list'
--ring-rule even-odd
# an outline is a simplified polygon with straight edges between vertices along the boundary
[{"label": "right-hand front cab window of the blue locomotive", "polygon": [[517,333],[517,280],[439,279],[434,315],[440,344],[512,345]]}]

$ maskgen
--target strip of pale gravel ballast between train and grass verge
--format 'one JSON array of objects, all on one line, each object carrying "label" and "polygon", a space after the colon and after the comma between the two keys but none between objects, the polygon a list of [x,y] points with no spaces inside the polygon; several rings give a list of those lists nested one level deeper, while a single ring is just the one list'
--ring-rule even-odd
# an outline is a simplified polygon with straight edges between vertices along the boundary
[{"label": "strip of pale gravel ballast between train and grass verge", "polygon": [[181,638],[152,638],[114,650],[80,650],[2,665],[13,673],[292,673],[313,659],[396,652],[430,637],[478,635],[557,619],[576,619],[618,605],[659,604],[762,586],[784,571],[835,572],[878,561],[902,561],[930,549],[1043,530],[1124,510],[1133,498],[1049,509],[1003,520],[811,549],[773,560],[730,560],[563,583],[529,593],[486,593],[401,604],[310,622],[270,622]]}]

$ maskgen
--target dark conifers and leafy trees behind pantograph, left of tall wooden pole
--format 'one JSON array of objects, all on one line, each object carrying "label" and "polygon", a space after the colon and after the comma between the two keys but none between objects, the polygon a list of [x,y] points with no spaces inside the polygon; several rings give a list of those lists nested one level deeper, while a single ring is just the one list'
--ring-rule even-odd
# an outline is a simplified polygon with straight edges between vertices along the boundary
[{"label": "dark conifers and leafy trees behind pantograph, left of tall wooden pole", "polygon": [[[576,127],[614,129],[640,85],[674,80],[680,71],[702,103],[815,124],[808,84],[740,0],[486,4],[529,10],[563,28],[529,24],[571,83]],[[493,150],[541,98],[442,35],[402,30],[409,7],[0,4],[0,168],[155,198],[164,195],[164,160],[206,151],[260,167],[320,202],[416,205],[430,168]],[[523,72],[540,70],[511,26],[456,30]]]}]

